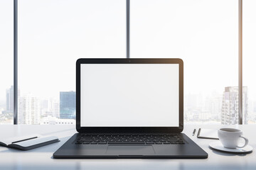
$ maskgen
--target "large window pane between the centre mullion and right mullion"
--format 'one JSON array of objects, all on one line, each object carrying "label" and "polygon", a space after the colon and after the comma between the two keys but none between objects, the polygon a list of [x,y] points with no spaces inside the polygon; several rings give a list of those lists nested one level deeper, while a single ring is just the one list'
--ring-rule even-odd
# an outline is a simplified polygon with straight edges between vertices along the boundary
[{"label": "large window pane between the centre mullion and right mullion", "polygon": [[238,121],[238,1],[132,0],[131,57],[183,60],[185,123]]}]

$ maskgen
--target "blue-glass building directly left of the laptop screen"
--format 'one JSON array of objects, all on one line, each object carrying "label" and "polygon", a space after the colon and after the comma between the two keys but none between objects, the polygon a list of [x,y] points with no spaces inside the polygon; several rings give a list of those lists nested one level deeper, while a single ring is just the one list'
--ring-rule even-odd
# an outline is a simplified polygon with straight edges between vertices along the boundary
[{"label": "blue-glass building directly left of the laptop screen", "polygon": [[60,119],[75,119],[75,91],[60,91]]}]

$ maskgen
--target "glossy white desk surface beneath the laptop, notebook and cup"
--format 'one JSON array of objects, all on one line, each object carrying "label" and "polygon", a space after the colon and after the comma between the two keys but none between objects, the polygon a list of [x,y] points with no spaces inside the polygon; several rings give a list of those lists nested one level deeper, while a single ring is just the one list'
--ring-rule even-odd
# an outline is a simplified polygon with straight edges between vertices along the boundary
[{"label": "glossy white desk surface beneath the laptop, notebook and cup", "polygon": [[[53,152],[75,132],[75,125],[0,125],[0,140],[15,135],[58,136],[60,142],[29,151],[0,147],[0,169],[256,169],[256,125],[229,125],[240,128],[249,145],[250,154],[218,152],[208,147],[215,140],[198,139],[192,136],[196,128],[220,128],[218,125],[185,125],[183,130],[200,147],[208,152],[208,159],[53,159]],[[196,132],[197,134],[197,132]]]}]

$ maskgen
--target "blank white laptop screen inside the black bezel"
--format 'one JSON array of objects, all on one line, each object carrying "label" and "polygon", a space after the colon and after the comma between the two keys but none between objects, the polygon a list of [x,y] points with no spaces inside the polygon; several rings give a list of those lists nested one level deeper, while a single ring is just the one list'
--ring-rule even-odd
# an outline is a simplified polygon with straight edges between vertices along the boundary
[{"label": "blank white laptop screen inside the black bezel", "polygon": [[178,64],[81,64],[81,127],[178,127]]}]

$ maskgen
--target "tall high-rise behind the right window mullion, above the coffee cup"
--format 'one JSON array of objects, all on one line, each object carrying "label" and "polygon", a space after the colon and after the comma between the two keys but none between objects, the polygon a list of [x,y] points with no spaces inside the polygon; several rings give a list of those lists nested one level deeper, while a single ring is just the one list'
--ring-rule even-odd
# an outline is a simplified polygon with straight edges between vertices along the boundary
[{"label": "tall high-rise behind the right window mullion, above the coffee cup", "polygon": [[[247,124],[247,86],[242,88],[242,123]],[[221,108],[221,124],[238,124],[238,87],[225,87],[223,93],[223,103]]]}]

